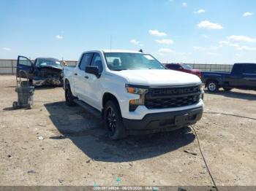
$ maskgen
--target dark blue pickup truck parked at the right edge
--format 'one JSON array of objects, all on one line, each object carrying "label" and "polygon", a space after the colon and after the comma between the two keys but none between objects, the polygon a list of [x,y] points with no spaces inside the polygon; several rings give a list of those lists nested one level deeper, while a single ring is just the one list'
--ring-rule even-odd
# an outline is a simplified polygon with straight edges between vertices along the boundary
[{"label": "dark blue pickup truck parked at the right edge", "polygon": [[256,90],[256,63],[235,63],[231,73],[203,72],[202,82],[210,92],[217,92],[220,87],[226,91]]}]

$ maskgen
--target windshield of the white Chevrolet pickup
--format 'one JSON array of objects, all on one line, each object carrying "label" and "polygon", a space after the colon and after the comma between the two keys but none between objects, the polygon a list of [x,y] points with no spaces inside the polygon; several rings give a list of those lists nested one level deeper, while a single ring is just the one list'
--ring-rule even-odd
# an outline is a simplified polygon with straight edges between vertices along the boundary
[{"label": "windshield of the white Chevrolet pickup", "polygon": [[165,69],[154,57],[148,54],[128,52],[105,53],[108,68],[113,71],[135,69]]}]

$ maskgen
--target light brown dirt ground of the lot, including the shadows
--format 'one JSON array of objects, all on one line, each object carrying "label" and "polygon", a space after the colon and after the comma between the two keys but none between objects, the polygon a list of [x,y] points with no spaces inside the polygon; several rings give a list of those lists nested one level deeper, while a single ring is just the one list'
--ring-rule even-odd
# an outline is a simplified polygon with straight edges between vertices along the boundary
[{"label": "light brown dirt ground of the lot, including the shadows", "polygon": [[[37,88],[31,110],[15,100],[15,77],[0,76],[0,185],[212,185],[190,128],[110,141],[61,87]],[[256,185],[256,120],[225,115],[256,119],[256,92],[206,93],[205,104],[195,129],[215,182]]]}]

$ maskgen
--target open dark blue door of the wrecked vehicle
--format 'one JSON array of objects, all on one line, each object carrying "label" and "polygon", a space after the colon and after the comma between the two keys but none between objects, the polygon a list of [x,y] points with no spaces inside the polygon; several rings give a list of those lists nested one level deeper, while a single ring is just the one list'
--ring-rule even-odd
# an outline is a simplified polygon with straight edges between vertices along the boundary
[{"label": "open dark blue door of the wrecked vehicle", "polygon": [[17,61],[17,77],[33,79],[33,63],[25,56],[18,56]]}]

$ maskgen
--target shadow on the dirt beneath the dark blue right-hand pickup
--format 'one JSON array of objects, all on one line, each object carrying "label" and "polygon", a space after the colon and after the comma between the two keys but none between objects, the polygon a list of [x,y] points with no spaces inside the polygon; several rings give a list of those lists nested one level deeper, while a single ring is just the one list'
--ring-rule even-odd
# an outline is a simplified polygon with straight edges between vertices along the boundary
[{"label": "shadow on the dirt beneath the dark blue right-hand pickup", "polygon": [[229,92],[225,90],[219,90],[217,93],[211,93],[208,90],[205,90],[205,91],[208,94],[223,95],[227,98],[237,98],[237,99],[245,99],[249,101],[256,101],[256,91],[255,91],[255,94],[236,92],[236,90],[231,90]]}]

